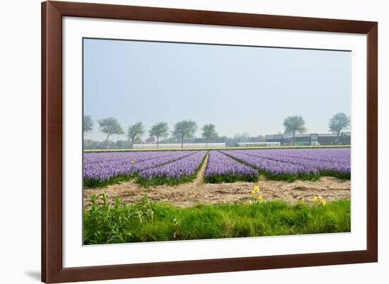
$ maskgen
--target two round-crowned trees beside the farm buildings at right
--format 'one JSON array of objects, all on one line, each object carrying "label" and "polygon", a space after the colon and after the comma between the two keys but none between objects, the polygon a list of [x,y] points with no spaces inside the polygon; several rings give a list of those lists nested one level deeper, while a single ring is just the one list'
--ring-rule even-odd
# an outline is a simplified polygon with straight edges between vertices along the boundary
[{"label": "two round-crowned trees beside the farm buildings at right", "polygon": [[[337,136],[339,136],[340,132],[344,129],[348,129],[350,124],[350,117],[347,117],[347,115],[343,112],[339,112],[330,118],[328,122],[328,128],[332,133],[335,133]],[[294,145],[296,144],[296,133],[305,133],[306,131],[306,121],[303,119],[303,117],[295,115],[286,117],[286,119],[284,119],[284,133],[292,135]]]}]

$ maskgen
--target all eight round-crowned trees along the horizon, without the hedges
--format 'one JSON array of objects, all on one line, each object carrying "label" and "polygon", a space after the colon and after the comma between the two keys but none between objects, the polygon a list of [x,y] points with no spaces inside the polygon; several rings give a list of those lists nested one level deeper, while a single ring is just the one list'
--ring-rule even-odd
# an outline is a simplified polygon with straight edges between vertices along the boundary
[{"label": "all eight round-crowned trees along the horizon, without the hedges", "polygon": [[[144,134],[146,134],[146,127],[142,122],[137,122],[128,126],[127,133],[124,133],[122,126],[117,119],[113,117],[108,117],[105,119],[98,120],[100,131],[107,136],[105,139],[105,148],[108,146],[108,140],[112,135],[122,135],[127,134],[129,141],[131,141],[131,146],[134,145],[134,141],[141,139]],[[347,117],[346,114],[339,112],[332,116],[328,122],[328,128],[332,133],[336,133],[339,136],[340,132],[343,129],[347,129],[350,126],[350,117]],[[86,115],[83,117],[83,133],[87,134],[93,130],[93,120],[92,117]],[[183,143],[185,138],[193,138],[194,133],[197,131],[197,124],[192,120],[182,120],[177,122],[174,125],[173,131],[169,131],[168,124],[166,122],[156,122],[149,129],[149,138],[146,141],[153,142],[156,139],[157,148],[159,146],[159,141],[161,138],[166,138],[171,134],[175,138],[179,138],[181,141],[181,148],[183,148]],[[284,133],[291,134],[293,137],[293,143],[296,143],[296,133],[305,133],[306,122],[303,117],[300,116],[290,116],[284,119]],[[215,129],[214,124],[205,124],[202,126],[202,137],[206,138],[207,146],[208,141],[212,138],[217,138],[218,134]]]}]

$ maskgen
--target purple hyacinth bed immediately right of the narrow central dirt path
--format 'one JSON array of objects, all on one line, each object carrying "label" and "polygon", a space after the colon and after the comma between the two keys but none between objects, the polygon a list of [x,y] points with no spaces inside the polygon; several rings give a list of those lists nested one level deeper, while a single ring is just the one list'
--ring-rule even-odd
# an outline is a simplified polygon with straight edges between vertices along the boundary
[{"label": "purple hyacinth bed immediately right of the narrow central dirt path", "polygon": [[252,167],[243,165],[218,151],[211,151],[211,153],[209,153],[207,170],[205,170],[206,179],[209,179],[212,176],[226,175],[236,176],[236,178],[249,177],[257,179],[258,171],[252,169]]}]

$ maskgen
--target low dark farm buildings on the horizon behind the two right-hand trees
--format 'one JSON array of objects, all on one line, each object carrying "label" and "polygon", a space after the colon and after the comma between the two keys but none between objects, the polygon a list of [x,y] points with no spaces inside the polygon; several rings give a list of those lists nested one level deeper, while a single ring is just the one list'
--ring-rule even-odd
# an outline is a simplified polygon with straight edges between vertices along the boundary
[{"label": "low dark farm buildings on the horizon behind the two right-hand trees", "polygon": [[[339,136],[337,134],[296,134],[297,146],[308,145],[351,145],[351,132],[342,132]],[[282,146],[288,146],[293,143],[293,137],[286,134],[266,135],[265,141],[279,142]]]}]

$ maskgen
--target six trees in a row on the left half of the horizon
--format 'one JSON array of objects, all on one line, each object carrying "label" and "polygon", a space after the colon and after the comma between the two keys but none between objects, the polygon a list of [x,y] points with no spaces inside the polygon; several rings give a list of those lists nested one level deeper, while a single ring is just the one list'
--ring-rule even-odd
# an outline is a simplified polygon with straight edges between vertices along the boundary
[{"label": "six trees in a row on the left half of the horizon", "polygon": [[[124,131],[122,126],[118,122],[117,119],[113,117],[108,117],[105,119],[98,120],[100,131],[103,132],[107,136],[105,139],[105,148],[108,146],[108,140],[112,135],[122,135]],[[93,120],[92,117],[86,115],[83,117],[83,133],[87,134],[88,132],[93,130]],[[197,124],[192,120],[182,120],[181,122],[177,122],[174,125],[173,131],[169,131],[168,124],[166,122],[156,122],[149,129],[150,138],[156,138],[157,148],[159,146],[160,138],[168,137],[169,134],[176,138],[180,138],[181,148],[184,145],[185,138],[193,138],[194,133],[197,131]],[[146,134],[146,127],[142,122],[137,122],[128,126],[127,128],[127,137],[131,141],[131,145],[134,145],[135,139],[140,139],[142,136]],[[207,139],[208,141],[211,138],[217,138],[218,134],[216,133],[216,129],[214,124],[205,124],[202,126],[202,137]]]}]

